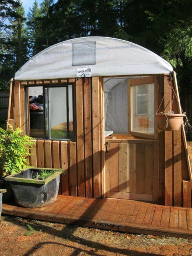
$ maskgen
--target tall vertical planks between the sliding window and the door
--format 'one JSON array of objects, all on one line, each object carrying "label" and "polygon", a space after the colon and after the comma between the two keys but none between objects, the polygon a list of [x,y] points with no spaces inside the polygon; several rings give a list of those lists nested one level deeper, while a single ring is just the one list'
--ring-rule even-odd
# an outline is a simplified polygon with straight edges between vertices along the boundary
[{"label": "tall vertical planks between the sliding window and the door", "polygon": [[101,78],[86,78],[85,83],[83,79],[76,81],[78,196],[100,198],[103,195],[103,123]]}]

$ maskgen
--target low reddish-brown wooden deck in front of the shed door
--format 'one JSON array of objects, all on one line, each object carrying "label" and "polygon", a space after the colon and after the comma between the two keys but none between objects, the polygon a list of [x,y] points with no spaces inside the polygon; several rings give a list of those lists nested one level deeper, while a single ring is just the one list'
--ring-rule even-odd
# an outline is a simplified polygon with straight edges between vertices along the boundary
[{"label": "low reddish-brown wooden deck in front of the shed door", "polygon": [[192,238],[192,209],[123,199],[58,196],[52,205],[3,204],[3,214],[138,234]]}]

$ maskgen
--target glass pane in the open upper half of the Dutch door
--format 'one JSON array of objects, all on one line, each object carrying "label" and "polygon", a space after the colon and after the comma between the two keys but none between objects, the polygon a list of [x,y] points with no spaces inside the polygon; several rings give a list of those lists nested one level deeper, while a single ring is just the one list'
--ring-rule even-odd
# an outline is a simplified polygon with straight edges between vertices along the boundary
[{"label": "glass pane in the open upper half of the Dutch door", "polygon": [[154,84],[132,86],[131,130],[154,134]]}]

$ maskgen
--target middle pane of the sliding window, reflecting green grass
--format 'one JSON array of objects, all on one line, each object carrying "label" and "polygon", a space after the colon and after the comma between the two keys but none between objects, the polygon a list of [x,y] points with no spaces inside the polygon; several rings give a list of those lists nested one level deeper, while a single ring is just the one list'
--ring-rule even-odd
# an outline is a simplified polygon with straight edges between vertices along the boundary
[{"label": "middle pane of the sliding window, reflecting green grass", "polygon": [[49,88],[49,125],[51,139],[67,139],[66,87]]}]

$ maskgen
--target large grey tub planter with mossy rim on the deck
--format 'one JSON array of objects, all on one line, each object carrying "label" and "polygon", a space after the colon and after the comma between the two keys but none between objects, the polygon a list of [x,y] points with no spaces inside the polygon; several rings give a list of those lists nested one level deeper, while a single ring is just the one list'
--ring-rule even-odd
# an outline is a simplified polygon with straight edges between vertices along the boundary
[{"label": "large grey tub planter with mossy rim on the deck", "polygon": [[[53,172],[44,180],[38,179],[41,170]],[[22,207],[37,208],[52,204],[58,194],[61,169],[50,168],[28,168],[22,172],[7,176],[5,180],[10,181],[14,198]],[[36,177],[36,179],[34,179]]]}]

